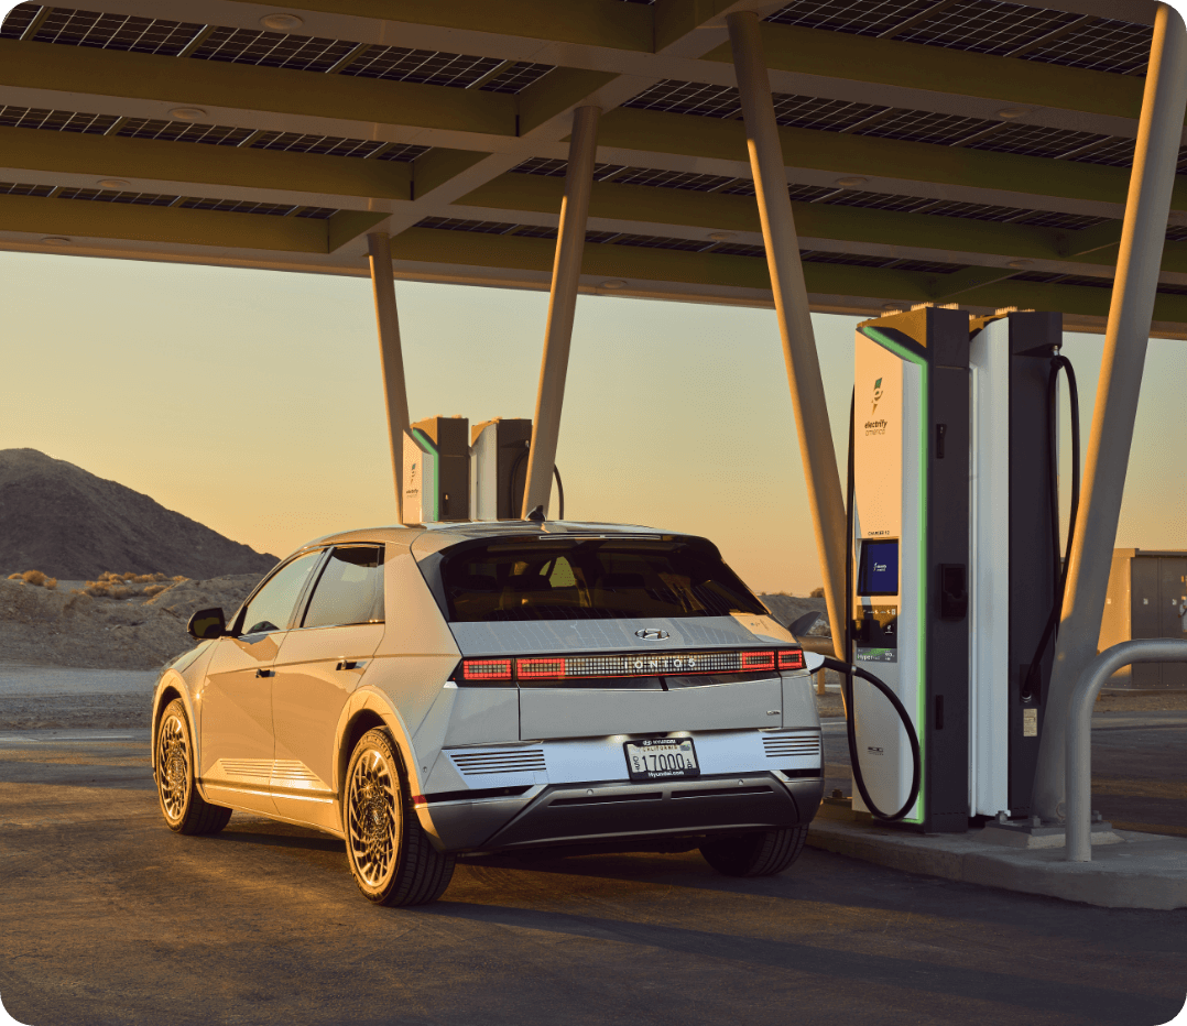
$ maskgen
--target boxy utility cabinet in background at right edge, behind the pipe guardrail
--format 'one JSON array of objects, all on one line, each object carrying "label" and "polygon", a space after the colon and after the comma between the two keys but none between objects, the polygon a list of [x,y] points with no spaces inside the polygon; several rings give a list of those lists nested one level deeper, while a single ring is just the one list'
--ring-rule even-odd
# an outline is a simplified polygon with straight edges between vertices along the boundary
[{"label": "boxy utility cabinet in background at right edge, behind the pipe guardrail", "polygon": [[[1187,550],[1113,549],[1099,649],[1134,638],[1187,638]],[[1136,663],[1113,687],[1187,688],[1187,663]]]}]

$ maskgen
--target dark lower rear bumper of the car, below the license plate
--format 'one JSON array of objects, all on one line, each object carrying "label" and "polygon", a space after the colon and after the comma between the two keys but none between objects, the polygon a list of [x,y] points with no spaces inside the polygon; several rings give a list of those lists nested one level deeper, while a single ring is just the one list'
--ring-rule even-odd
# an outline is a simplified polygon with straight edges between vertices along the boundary
[{"label": "dark lower rear bumper of the car, below the license plate", "polygon": [[793,827],[811,822],[823,794],[819,778],[748,772],[540,785],[515,797],[432,803],[427,812],[444,850],[491,852]]}]

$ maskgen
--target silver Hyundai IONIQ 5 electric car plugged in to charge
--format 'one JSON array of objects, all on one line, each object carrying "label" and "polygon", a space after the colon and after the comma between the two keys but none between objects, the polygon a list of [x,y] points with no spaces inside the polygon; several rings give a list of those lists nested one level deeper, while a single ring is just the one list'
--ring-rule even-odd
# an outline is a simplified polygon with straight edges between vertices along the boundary
[{"label": "silver Hyundai IONIQ 5 electric car plugged in to charge", "polygon": [[165,823],[233,810],[345,842],[363,896],[474,853],[799,855],[820,803],[804,651],[704,539],[502,521],[310,542],[153,694]]}]

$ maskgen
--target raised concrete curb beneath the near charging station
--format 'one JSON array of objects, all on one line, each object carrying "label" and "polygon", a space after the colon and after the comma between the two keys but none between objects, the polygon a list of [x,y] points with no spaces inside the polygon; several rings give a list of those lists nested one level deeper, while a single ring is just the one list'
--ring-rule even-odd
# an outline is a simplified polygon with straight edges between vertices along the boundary
[{"label": "raised concrete curb beneath the near charging station", "polygon": [[907,873],[1045,894],[1110,909],[1187,907],[1187,839],[1116,830],[1121,843],[1093,846],[1091,862],[1065,861],[1065,849],[1003,848],[976,833],[921,835],[818,815],[813,848]]}]

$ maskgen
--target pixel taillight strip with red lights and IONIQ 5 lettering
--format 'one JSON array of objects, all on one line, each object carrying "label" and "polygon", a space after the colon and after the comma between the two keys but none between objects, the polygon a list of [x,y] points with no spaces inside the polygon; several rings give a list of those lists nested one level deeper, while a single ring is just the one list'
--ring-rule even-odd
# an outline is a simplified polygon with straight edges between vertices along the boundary
[{"label": "pixel taillight strip with red lights and IONIQ 5 lettering", "polygon": [[754,674],[802,670],[800,649],[760,649],[604,656],[531,656],[463,659],[462,682],[563,680],[566,677],[639,677],[684,674]]}]

